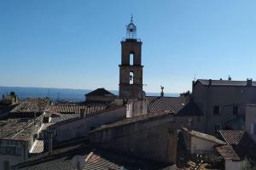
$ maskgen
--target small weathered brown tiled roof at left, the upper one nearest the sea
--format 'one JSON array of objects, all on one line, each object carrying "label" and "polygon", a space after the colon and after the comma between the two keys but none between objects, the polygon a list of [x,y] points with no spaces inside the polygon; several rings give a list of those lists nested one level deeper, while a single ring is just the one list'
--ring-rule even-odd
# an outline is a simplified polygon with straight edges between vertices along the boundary
[{"label": "small weathered brown tiled roof at left, the upper one nearest the sea", "polygon": [[48,106],[48,98],[28,98],[20,105],[15,106],[10,113],[38,113],[44,111]]}]

